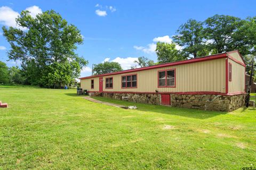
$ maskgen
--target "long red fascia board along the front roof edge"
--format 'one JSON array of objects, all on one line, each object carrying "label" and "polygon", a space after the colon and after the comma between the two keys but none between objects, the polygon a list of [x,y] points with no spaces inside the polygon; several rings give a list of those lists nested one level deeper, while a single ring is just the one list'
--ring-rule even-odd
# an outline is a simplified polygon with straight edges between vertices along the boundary
[{"label": "long red fascia board along the front roof edge", "polygon": [[158,64],[158,65],[142,67],[142,68],[137,68],[137,69],[131,69],[131,70],[125,70],[125,71],[118,71],[118,72],[113,72],[113,73],[92,75],[92,76],[89,76],[89,77],[84,77],[84,78],[79,78],[79,79],[83,80],[83,79],[90,79],[90,78],[95,78],[95,77],[102,77],[102,76],[106,76],[106,75],[123,74],[123,73],[130,73],[130,72],[136,72],[136,71],[142,71],[142,70],[156,69],[156,68],[173,66],[173,65],[203,62],[203,61],[208,61],[208,60],[216,60],[216,59],[224,58],[224,57],[227,57],[227,53],[215,54],[215,55],[210,55],[210,56],[205,56],[205,57],[200,57],[200,58],[193,58],[193,59],[189,59],[189,60],[183,60],[183,61],[172,62],[172,63]]}]

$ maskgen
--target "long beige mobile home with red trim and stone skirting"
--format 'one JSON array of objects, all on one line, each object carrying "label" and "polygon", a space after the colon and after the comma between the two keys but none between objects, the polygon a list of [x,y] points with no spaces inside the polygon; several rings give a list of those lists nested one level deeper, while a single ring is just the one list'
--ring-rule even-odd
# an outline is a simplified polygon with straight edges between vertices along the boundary
[{"label": "long beige mobile home with red trim and stone skirting", "polygon": [[228,112],[245,99],[245,62],[237,50],[80,79],[84,90],[138,103]]}]

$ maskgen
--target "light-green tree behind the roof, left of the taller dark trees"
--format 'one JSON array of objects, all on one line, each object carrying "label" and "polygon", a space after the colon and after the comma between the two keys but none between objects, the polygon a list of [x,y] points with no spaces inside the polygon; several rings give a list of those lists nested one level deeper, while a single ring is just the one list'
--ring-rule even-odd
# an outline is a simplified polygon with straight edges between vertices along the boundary
[{"label": "light-green tree behind the roof, left of the taller dark trees", "polygon": [[186,56],[182,55],[174,43],[161,43],[156,44],[156,54],[158,63],[168,63],[174,61],[185,60]]}]

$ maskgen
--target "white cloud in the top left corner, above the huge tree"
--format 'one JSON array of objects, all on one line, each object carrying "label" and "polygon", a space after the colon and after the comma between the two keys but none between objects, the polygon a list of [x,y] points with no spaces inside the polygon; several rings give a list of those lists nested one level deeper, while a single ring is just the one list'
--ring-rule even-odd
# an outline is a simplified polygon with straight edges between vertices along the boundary
[{"label": "white cloud in the top left corner, above the huge tree", "polygon": [[[35,17],[38,13],[42,13],[42,10],[38,6],[30,6],[27,7],[26,10],[28,10],[30,15],[33,17]],[[19,27],[16,24],[15,19],[18,18],[18,16],[20,16],[20,14],[16,11],[13,11],[12,8],[8,6],[0,7],[0,24],[26,30],[26,28]]]}]

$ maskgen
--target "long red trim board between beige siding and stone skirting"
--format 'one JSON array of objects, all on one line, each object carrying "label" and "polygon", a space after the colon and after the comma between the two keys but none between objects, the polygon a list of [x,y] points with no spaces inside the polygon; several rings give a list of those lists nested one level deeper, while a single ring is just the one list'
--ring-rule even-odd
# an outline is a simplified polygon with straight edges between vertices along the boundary
[{"label": "long red trim board between beige siding and stone skirting", "polygon": [[[89,91],[89,92],[99,92],[99,91]],[[177,94],[177,95],[222,95],[222,96],[232,96],[246,94],[246,92],[233,92],[225,93],[218,91],[187,91],[187,92],[136,92],[136,91],[103,91],[103,93],[112,94]]]}]

